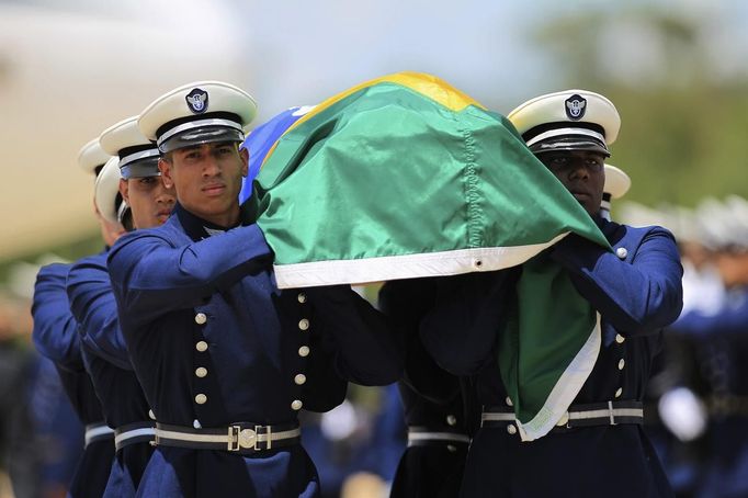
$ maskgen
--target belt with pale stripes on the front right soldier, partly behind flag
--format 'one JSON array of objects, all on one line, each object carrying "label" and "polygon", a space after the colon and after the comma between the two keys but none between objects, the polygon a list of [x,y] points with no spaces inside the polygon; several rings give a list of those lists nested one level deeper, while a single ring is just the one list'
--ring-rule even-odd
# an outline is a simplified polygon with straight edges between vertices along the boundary
[{"label": "belt with pale stripes on the front right soldier, partly behind flag", "polygon": [[[621,423],[644,423],[642,401],[602,401],[571,405],[556,422],[553,431],[578,427],[617,426]],[[508,427],[515,425],[511,407],[484,407],[480,427]]]}]

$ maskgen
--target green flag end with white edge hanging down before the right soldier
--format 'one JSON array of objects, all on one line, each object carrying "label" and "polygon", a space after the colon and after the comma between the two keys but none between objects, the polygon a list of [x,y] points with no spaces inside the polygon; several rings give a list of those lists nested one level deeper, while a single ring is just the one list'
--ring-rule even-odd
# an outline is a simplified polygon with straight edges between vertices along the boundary
[{"label": "green flag end with white edge hanging down before the right soldier", "polygon": [[[547,254],[522,265],[499,370],[525,441],[545,435],[579,393],[601,343],[600,315]],[[560,372],[560,376],[559,376]]]}]

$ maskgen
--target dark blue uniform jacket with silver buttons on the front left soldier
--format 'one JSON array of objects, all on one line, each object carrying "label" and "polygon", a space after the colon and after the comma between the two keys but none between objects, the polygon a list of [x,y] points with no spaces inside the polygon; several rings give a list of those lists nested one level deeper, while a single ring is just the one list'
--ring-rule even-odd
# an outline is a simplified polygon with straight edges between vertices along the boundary
[{"label": "dark blue uniform jacket with silver buttons on the front left soldier", "polygon": [[[387,341],[392,335],[375,310],[352,301],[361,299],[352,291],[281,292],[257,225],[216,236],[206,227],[178,205],[161,227],[122,237],[109,259],[122,331],[159,422],[295,421],[298,409],[315,405],[305,385],[314,376],[308,363],[325,353],[310,342],[320,331],[339,346],[330,361],[341,377],[338,395],[342,378],[387,384],[399,377],[398,344]],[[318,479],[301,446],[243,457],[158,446],[138,490],[207,493],[316,496]]]}]

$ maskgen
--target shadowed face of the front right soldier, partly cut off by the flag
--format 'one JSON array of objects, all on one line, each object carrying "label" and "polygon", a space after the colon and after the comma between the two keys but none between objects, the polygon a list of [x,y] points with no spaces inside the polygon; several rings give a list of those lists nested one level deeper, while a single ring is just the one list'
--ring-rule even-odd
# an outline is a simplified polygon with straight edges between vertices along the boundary
[{"label": "shadowed face of the front right soldier, partly cut off by the flag", "polygon": [[605,156],[586,150],[559,150],[539,154],[537,158],[590,216],[600,211],[605,185]]}]

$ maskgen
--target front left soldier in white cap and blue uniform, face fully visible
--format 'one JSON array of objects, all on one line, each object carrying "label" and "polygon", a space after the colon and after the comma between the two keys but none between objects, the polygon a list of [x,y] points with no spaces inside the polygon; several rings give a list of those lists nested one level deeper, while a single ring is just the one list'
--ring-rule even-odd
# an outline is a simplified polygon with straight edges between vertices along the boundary
[{"label": "front left soldier in white cap and blue uniform, face fully visible", "polygon": [[237,200],[248,157],[238,145],[254,113],[249,94],[216,81],[180,87],[140,113],[178,204],[109,258],[120,326],[157,418],[138,496],[317,496],[298,444],[298,410],[319,407],[307,363],[333,342],[331,376],[389,384],[401,374],[396,337],[349,286],[276,288],[272,251]]}]

